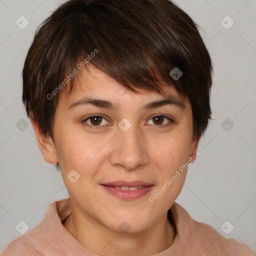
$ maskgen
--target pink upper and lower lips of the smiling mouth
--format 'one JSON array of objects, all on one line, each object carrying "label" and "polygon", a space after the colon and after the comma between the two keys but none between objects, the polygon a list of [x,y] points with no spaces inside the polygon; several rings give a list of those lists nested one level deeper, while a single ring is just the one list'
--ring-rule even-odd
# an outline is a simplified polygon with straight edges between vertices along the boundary
[{"label": "pink upper and lower lips of the smiling mouth", "polygon": [[[133,200],[137,199],[145,194],[147,194],[152,187],[153,184],[144,182],[144,181],[122,181],[122,180],[116,180],[107,182],[104,184],[101,184],[101,186],[110,194],[114,195],[117,198],[123,199],[123,200]],[[114,186],[142,186],[141,188],[138,188],[136,190],[121,190],[117,189]]]}]

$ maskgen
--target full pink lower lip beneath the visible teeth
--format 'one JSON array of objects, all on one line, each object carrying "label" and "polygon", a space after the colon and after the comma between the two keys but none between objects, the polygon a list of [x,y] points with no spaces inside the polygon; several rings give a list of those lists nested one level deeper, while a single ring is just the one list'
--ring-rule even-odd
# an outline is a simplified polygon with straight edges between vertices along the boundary
[{"label": "full pink lower lip beneath the visible teeth", "polygon": [[132,200],[137,199],[145,194],[147,194],[153,187],[153,185],[150,186],[144,186],[141,188],[138,188],[136,190],[121,190],[117,189],[115,187],[109,187],[105,185],[101,185],[108,191],[110,194],[124,200]]}]

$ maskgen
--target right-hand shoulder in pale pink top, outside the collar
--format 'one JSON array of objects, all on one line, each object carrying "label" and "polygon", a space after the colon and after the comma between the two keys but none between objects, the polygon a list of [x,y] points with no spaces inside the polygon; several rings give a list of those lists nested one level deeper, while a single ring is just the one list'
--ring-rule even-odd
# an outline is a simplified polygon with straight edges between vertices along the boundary
[{"label": "right-hand shoulder in pale pink top, outside the collar", "polygon": [[199,253],[201,256],[255,256],[245,244],[233,238],[227,239],[212,226],[191,218],[188,212],[176,202],[171,210],[185,255]]}]

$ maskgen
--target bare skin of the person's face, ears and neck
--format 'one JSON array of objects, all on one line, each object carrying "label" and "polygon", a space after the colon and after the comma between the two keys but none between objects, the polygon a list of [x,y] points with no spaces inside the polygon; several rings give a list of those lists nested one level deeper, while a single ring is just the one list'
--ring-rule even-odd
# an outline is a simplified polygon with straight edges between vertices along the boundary
[{"label": "bare skin of the person's face, ears and neck", "polygon": [[[89,72],[80,71],[79,85],[71,94],[63,89],[59,95],[53,125],[54,143],[40,132],[32,115],[30,117],[44,159],[59,163],[70,195],[72,214],[63,225],[86,249],[99,255],[159,253],[170,247],[175,237],[167,210],[180,193],[186,170],[154,202],[149,201],[149,196],[159,190],[179,166],[193,161],[198,138],[193,136],[190,103],[182,96],[184,109],[170,104],[141,109],[149,101],[163,97],[152,92],[129,91],[92,66]],[[170,92],[178,95],[172,88]],[[68,109],[85,96],[109,100],[119,109],[88,104]],[[100,128],[84,125],[83,120],[91,114],[105,118],[97,122]],[[165,115],[174,122],[167,118],[157,122],[152,115]],[[118,127],[123,118],[131,123],[127,131]],[[95,124],[92,118],[85,123]],[[67,178],[72,169],[80,174],[74,183]],[[142,180],[154,186],[140,198],[123,200],[100,185],[114,180]],[[118,228],[123,221],[130,226],[127,233]]]}]

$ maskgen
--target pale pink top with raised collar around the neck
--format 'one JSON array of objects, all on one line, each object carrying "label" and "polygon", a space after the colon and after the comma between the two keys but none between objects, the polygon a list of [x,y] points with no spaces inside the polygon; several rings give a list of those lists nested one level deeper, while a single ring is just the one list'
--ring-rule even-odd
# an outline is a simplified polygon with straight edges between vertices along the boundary
[{"label": "pale pink top with raised collar around the neck", "polygon": [[[42,221],[27,233],[12,240],[1,256],[95,256],[84,248],[63,226],[71,214],[70,198],[54,201]],[[172,245],[154,256],[255,256],[246,245],[226,239],[208,224],[192,219],[174,202],[168,210],[176,235]],[[115,256],[115,255],[113,255]]]}]

